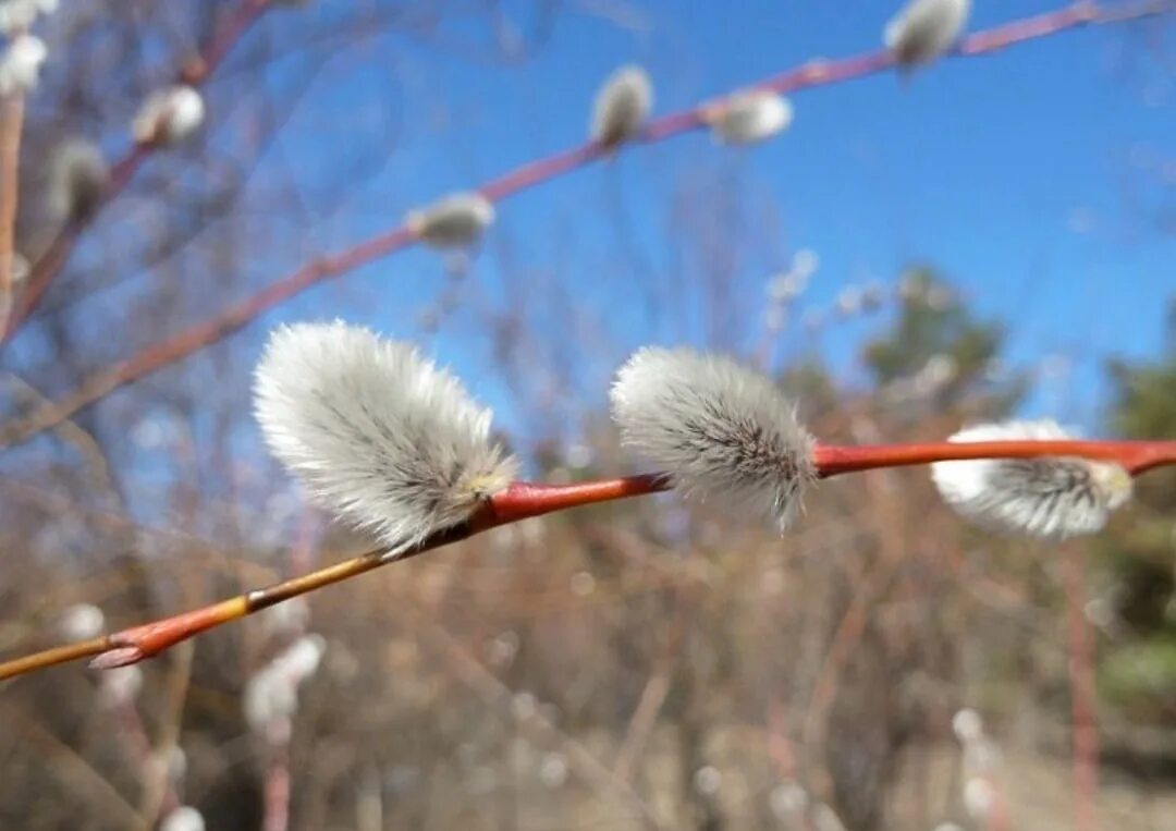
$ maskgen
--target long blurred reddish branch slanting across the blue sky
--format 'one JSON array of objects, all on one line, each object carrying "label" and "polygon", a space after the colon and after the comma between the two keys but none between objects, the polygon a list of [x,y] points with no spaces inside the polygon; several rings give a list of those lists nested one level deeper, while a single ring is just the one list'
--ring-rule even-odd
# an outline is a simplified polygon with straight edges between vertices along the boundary
[{"label": "long blurred reddish branch slanting across the blue sky", "polygon": [[[260,5],[260,4],[259,4]],[[1090,0],[965,36],[954,56],[977,56],[1014,44],[1044,38],[1084,25],[1122,22],[1152,16],[1176,7],[1174,0],[1098,4]],[[779,75],[751,85],[749,89],[791,93],[864,78],[889,69],[894,58],[887,51],[871,52],[835,61],[814,60]],[[708,115],[723,106],[726,97],[650,121],[640,141],[653,144],[703,128]],[[584,167],[607,155],[606,148],[588,142],[555,155],[522,165],[477,188],[492,201],[550,181]],[[229,306],[218,317],[196,324],[173,338],[143,348],[134,355],[89,375],[64,398],[46,404],[0,427],[0,447],[27,441],[69,418],[79,410],[105,398],[115,390],[215,344],[243,327],[274,306],[328,279],[341,277],[374,260],[388,257],[416,241],[407,227],[396,227],[373,237],[338,254],[308,262],[258,293]],[[64,259],[64,257],[59,258]]]}]

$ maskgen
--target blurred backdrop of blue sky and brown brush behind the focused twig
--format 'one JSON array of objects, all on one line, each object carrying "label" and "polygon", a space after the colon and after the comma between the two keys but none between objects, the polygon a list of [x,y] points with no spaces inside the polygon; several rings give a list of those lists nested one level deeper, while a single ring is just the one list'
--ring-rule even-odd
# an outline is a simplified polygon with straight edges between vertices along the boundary
[{"label": "blurred backdrop of blue sky and brown brush behind the focused twig", "polygon": [[[968,28],[1058,2],[978,0]],[[252,420],[282,321],[420,343],[541,480],[633,470],[607,387],[644,344],[744,357],[828,441],[1005,416],[1176,436],[1171,14],[803,91],[763,145],[636,145],[503,200],[469,251],[410,247],[219,317],[581,144],[621,65],[664,114],[875,51],[895,12],[122,0],[39,18],[41,81],[0,122],[20,137],[16,310],[52,277],[0,353],[0,656],[365,550]],[[136,149],[131,120],[178,78],[200,82],[202,126]],[[123,164],[105,204],[62,210],[79,141]],[[206,347],[160,346],[207,321]],[[98,392],[69,418],[4,433],[79,390]],[[1176,829],[1174,517],[1157,472],[1097,538],[1011,541],[909,470],[822,484],[783,538],[674,498],[500,528],[141,671],[0,686],[0,827],[182,831],[189,805],[216,831]]]}]

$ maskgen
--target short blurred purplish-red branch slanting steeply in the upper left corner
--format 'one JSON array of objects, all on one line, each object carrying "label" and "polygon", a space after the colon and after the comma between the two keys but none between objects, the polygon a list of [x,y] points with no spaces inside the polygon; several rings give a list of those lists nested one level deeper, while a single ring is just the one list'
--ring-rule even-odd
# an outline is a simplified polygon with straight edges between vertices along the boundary
[{"label": "short blurred purplish-red branch slanting steeply in the upper left corner", "polygon": [[[207,81],[208,77],[223,62],[233,46],[256,22],[268,5],[269,0],[241,0],[240,5],[216,28],[216,33],[203,53],[192,58],[179,72],[179,80],[189,86],[200,86]],[[0,321],[0,346],[12,340],[32,315],[45,295],[45,290],[49,287],[49,284],[61,273],[65,264],[69,260],[82,232],[91,226],[101,208],[127,187],[139,168],[159,147],[158,141],[135,142],[111,165],[111,181],[107,184],[96,210],[67,222],[49,242],[45,253],[33,264],[25,288],[16,299],[11,317],[6,321]]]}]

